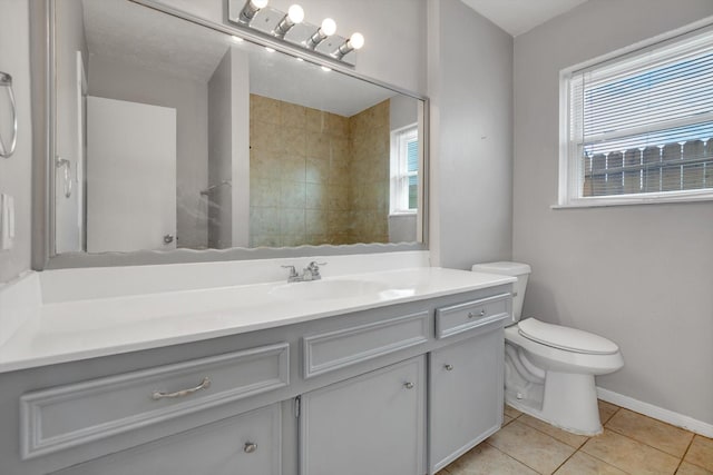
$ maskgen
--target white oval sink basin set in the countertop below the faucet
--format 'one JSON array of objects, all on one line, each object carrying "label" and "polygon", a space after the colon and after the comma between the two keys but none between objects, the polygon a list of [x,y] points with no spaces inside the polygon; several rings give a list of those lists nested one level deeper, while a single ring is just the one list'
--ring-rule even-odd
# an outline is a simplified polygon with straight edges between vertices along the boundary
[{"label": "white oval sink basin set in the countertop below the faucet", "polygon": [[324,300],[377,295],[389,286],[371,280],[312,280],[277,286],[270,294],[286,299]]}]

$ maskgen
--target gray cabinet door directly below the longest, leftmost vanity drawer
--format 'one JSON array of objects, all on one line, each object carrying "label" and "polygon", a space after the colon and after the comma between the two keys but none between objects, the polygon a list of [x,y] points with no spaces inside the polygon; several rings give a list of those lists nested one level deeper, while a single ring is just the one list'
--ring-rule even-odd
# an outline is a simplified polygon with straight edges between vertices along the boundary
[{"label": "gray cabinet door directly below the longest, leftmost vanity drawer", "polygon": [[107,455],[56,475],[280,475],[280,404]]}]

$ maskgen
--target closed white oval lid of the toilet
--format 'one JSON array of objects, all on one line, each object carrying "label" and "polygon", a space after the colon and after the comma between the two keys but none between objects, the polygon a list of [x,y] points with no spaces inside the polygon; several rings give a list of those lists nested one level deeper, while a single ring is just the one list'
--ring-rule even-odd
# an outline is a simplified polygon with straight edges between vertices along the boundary
[{"label": "closed white oval lid of the toilet", "polygon": [[614,342],[598,335],[575,328],[563,327],[527,318],[518,324],[518,331],[525,338],[567,352],[590,355],[612,355],[619,350]]}]

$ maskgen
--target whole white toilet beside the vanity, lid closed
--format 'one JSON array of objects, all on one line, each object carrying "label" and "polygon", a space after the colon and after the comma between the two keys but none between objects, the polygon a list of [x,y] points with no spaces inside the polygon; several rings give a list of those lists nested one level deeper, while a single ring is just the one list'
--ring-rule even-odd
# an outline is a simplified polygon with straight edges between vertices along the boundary
[{"label": "whole white toilet beside the vanity, lid closed", "polygon": [[527,264],[477,264],[472,270],[517,277],[512,323],[505,328],[507,404],[575,434],[600,434],[594,377],[624,366],[618,346],[600,336],[535,318],[520,321],[530,274]]}]

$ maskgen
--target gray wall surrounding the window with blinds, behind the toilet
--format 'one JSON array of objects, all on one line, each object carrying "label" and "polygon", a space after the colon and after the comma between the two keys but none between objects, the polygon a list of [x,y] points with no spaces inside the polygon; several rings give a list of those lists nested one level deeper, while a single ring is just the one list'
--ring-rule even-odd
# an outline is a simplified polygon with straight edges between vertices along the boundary
[{"label": "gray wall surrounding the window with blinds, behind the toilet", "polygon": [[[589,1],[515,41],[514,258],[524,316],[616,342],[606,389],[713,423],[713,204],[553,210],[558,71],[713,14],[710,0]],[[593,28],[596,26],[596,28]]]}]

